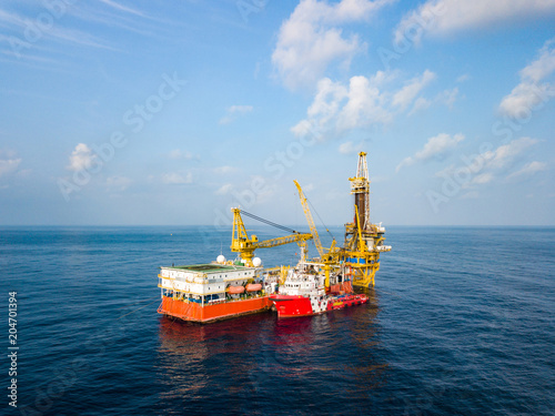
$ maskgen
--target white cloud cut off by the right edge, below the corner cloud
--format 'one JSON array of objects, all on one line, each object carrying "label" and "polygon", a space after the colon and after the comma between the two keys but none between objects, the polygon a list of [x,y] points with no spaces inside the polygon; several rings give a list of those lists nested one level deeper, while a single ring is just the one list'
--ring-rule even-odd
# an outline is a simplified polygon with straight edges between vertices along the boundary
[{"label": "white cloud cut off by the right edge, below the corner cloud", "polygon": [[521,83],[503,98],[500,111],[512,118],[527,119],[538,104],[555,97],[555,87],[541,83],[555,71],[555,39],[539,50],[539,57],[521,71]]}]

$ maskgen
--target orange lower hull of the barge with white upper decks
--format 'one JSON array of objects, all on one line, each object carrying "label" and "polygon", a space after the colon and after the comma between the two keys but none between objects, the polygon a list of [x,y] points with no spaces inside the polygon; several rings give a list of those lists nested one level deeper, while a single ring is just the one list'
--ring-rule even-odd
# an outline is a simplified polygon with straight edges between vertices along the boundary
[{"label": "orange lower hull of the barge with white upper decks", "polygon": [[220,319],[229,319],[240,315],[256,314],[270,311],[272,301],[269,296],[250,300],[224,302],[201,306],[194,302],[175,301],[163,296],[158,308],[159,314],[176,317],[183,321],[208,324]]}]

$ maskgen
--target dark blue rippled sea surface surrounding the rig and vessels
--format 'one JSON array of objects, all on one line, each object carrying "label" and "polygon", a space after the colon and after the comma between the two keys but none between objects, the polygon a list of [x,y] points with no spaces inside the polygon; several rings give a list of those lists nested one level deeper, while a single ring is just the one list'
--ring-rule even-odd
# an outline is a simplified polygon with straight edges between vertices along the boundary
[{"label": "dark blue rippled sea surface surrounding the rig and vessels", "polygon": [[[341,241],[341,229],[332,229]],[[259,239],[279,236],[263,229]],[[211,227],[1,227],[7,415],[554,415],[555,229],[389,227],[371,302],[211,325],[157,313]],[[296,245],[259,250],[266,266]],[[312,251],[314,253],[314,251]],[[18,408],[8,405],[8,293]]]}]

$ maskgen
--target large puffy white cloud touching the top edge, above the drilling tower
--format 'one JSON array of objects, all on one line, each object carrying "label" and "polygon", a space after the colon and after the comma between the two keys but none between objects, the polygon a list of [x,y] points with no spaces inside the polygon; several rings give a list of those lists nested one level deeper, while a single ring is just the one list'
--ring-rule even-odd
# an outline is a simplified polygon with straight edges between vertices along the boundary
[{"label": "large puffy white cloud touching the top edge, above the drilling tower", "polygon": [[393,1],[302,0],[281,26],[272,53],[272,63],[285,85],[291,89],[313,85],[332,62],[349,67],[365,45],[356,34],[344,34],[341,26],[365,21]]}]

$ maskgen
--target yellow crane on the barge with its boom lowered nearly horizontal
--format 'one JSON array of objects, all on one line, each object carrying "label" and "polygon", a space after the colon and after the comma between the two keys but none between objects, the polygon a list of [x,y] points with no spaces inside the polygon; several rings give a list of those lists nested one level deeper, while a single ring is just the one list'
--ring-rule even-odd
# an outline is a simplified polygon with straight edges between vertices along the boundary
[{"label": "yellow crane on the barge with its boom lowered nearly horizontal", "polygon": [[[278,239],[271,239],[271,240],[264,240],[264,241],[259,241],[256,235],[252,234],[249,237],[249,234],[246,233],[246,229],[243,223],[243,219],[241,217],[241,209],[239,207],[232,207],[231,211],[233,212],[233,235],[231,237],[231,251],[239,253],[240,257],[244,260],[244,264],[246,266],[253,266],[252,258],[254,257],[254,251],[256,248],[270,248],[270,247],[276,247],[279,245],[283,244],[290,244],[290,243],[299,243],[299,245],[304,246],[306,244],[306,241],[312,240],[313,235],[309,233],[297,233],[294,230],[294,233],[291,235],[286,235],[284,237],[278,237]],[[244,214],[248,214],[246,212],[243,211]],[[249,214],[249,216],[252,216],[259,221],[265,222],[270,225],[275,225],[270,221],[262,220],[255,215]],[[283,226],[279,226],[283,230],[289,230]]]}]

